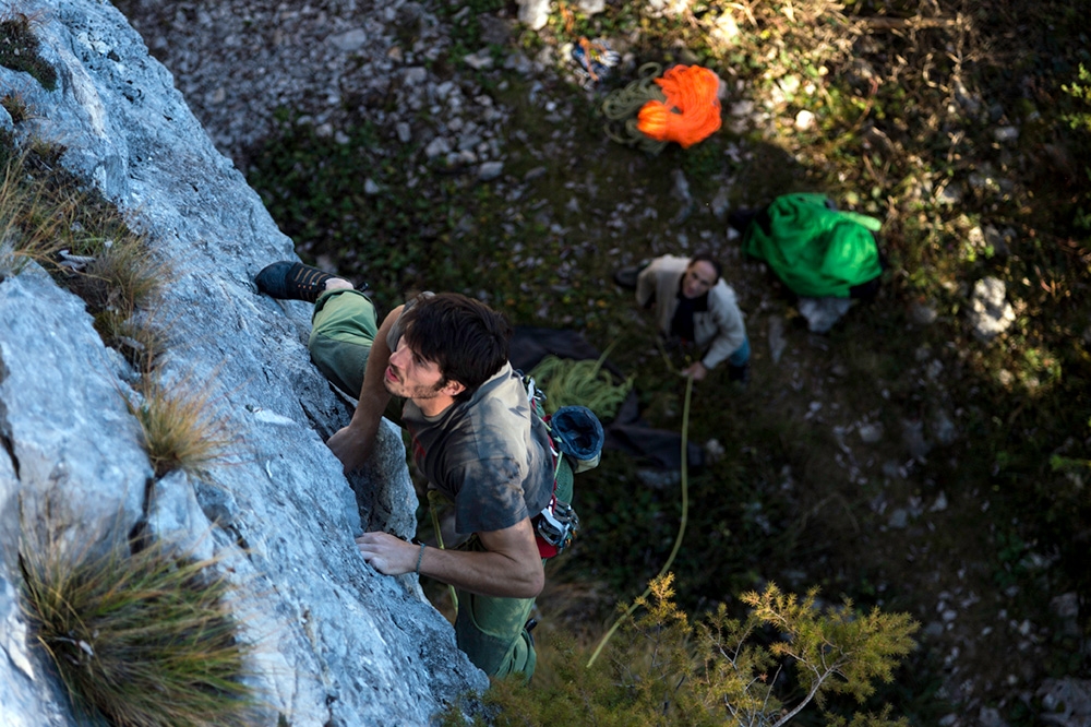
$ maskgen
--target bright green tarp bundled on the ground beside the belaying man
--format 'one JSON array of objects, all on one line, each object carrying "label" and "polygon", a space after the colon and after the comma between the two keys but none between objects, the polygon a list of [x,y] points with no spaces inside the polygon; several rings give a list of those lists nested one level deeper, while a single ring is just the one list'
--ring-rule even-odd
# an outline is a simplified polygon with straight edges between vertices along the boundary
[{"label": "bright green tarp bundled on the ground beside the belaying man", "polygon": [[743,252],[766,261],[798,296],[848,298],[850,288],[883,273],[872,235],[879,226],[829,208],[823,194],[784,194],[746,227]]}]

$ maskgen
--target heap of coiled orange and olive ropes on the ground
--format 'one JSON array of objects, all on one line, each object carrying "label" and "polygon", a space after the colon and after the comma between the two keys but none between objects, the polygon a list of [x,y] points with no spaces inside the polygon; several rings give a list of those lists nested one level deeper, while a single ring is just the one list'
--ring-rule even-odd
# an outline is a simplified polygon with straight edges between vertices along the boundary
[{"label": "heap of coiled orange and olive ropes on the ground", "polygon": [[720,128],[720,80],[697,65],[675,65],[659,78],[658,63],[645,63],[638,79],[602,102],[607,135],[626,146],[659,154],[669,142],[687,148]]}]

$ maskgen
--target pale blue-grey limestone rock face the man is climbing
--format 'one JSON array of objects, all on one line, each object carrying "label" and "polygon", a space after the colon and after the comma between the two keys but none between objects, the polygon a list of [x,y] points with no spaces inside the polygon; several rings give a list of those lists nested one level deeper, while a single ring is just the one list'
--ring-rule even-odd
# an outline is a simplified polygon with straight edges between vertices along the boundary
[{"label": "pale blue-grey limestone rock face the man is climbing", "polygon": [[[295,259],[261,200],[221,156],[109,3],[27,0],[56,91],[0,68],[61,163],[145,233],[172,270],[155,311],[172,386],[208,394],[233,440],[207,480],[156,478],[124,397],[136,378],[106,348],[84,303],[35,265],[0,279],[0,714],[4,725],[77,724],[20,610],[21,533],[73,544],[144,528],[220,557],[240,588],[243,637],[267,719],[292,725],[427,725],[488,684],[416,579],[381,575],[353,536],[410,537],[416,496],[384,427],[351,481],[324,440],[351,403],[310,362],[310,306],[257,294],[264,265]],[[4,124],[8,126],[8,124]]]}]

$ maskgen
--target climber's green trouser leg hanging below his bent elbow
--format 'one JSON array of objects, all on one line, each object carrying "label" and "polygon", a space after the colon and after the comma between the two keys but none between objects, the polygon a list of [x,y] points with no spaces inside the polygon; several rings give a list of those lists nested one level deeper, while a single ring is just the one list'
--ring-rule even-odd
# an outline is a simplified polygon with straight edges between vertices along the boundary
[{"label": "climber's green trouser leg hanging below his bent elbow", "polygon": [[[572,468],[566,460],[561,461],[558,472],[556,499],[572,502]],[[468,549],[480,547],[477,538],[471,538],[466,545]],[[529,681],[538,662],[533,639],[526,629],[535,599],[481,596],[461,589],[456,594],[458,616],[455,619],[455,637],[458,648],[491,677],[521,674]]]}]

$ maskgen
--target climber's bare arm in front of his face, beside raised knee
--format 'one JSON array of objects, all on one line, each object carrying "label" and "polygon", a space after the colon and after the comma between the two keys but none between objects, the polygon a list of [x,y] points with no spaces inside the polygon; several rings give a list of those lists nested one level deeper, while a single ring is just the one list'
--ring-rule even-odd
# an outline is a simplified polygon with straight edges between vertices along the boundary
[{"label": "climber's bare arm in front of his face, beside raised knee", "polygon": [[326,445],[345,465],[345,474],[362,466],[375,446],[379,422],[383,418],[383,412],[386,410],[386,404],[391,401],[391,395],[383,385],[383,376],[391,361],[391,348],[386,345],[386,336],[394,327],[394,322],[401,315],[404,308],[405,306],[398,306],[392,310],[379,326],[379,333],[375,334],[375,341],[368,354],[368,367],[363,372],[363,385],[360,386],[360,400],[352,414],[352,420],[326,441]]}]

